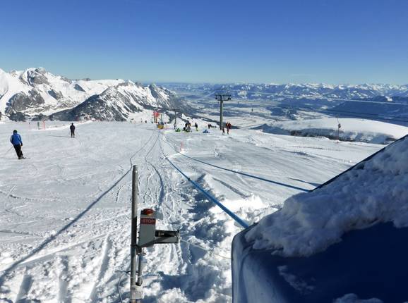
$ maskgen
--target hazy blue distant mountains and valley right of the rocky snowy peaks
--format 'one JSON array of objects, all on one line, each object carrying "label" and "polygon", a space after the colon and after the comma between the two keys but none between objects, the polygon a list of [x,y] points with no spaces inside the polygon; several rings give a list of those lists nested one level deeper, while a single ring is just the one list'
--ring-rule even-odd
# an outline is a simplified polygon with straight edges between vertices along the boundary
[{"label": "hazy blue distant mountains and valley right of the rocky snowy peaks", "polygon": [[[408,125],[408,85],[364,84],[184,84],[165,83],[186,99],[200,104],[214,99],[215,92],[230,94],[239,106],[251,101],[265,104],[273,118],[298,120],[303,114],[367,118]],[[249,101],[246,103],[246,101]],[[311,117],[309,117],[311,118]]]}]

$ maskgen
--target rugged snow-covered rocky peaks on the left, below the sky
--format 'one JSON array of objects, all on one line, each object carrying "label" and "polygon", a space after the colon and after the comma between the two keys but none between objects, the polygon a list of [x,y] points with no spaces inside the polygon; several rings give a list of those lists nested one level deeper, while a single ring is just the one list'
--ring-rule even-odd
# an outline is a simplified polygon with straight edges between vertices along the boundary
[{"label": "rugged snow-covered rocky peaks on the left, below the sky", "polygon": [[182,107],[163,87],[128,80],[69,80],[44,68],[0,69],[0,111],[11,120],[128,120],[132,113]]}]

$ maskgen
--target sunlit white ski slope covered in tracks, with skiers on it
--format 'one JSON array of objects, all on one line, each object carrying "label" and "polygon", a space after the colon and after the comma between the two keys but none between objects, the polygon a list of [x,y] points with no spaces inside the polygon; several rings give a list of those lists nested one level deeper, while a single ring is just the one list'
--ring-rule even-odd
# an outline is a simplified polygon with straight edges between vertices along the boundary
[{"label": "sunlit white ski slope covered in tracks, with skiers on it", "polygon": [[[66,122],[46,122],[45,130],[35,129],[36,123],[0,124],[0,302],[119,303],[119,278],[122,297],[128,300],[124,271],[130,264],[133,164],[139,172],[139,209],[157,209],[162,214],[157,228],[179,228],[181,233],[178,245],[146,250],[143,302],[231,302],[230,246],[241,228],[164,155],[243,220],[254,223],[298,191],[223,171],[176,151],[311,190],[381,147],[256,130],[232,130],[223,136],[212,129],[204,134],[203,123],[198,132],[159,131],[149,121],[139,123],[144,117],[134,118],[138,123],[78,124],[74,139]],[[18,160],[9,143],[14,129],[23,137],[26,160]],[[398,150],[406,155],[404,147]],[[391,149],[388,154],[395,158]],[[374,165],[400,175],[406,168],[405,163],[370,167]],[[385,173],[380,184],[390,185],[386,180],[391,177]],[[405,192],[393,188],[394,195]],[[367,205],[375,208],[377,201]],[[391,197],[387,201],[391,217],[397,204]],[[331,214],[327,207],[321,211],[323,218]],[[371,209],[364,214],[372,214]]]}]

